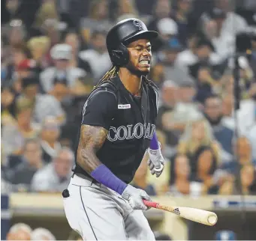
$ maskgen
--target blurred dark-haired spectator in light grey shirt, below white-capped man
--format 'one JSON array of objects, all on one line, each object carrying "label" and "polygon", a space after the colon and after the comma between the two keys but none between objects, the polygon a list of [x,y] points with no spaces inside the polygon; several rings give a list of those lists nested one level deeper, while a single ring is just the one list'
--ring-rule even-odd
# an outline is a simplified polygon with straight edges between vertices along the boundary
[{"label": "blurred dark-haired spectator in light grey shirt, below white-capped man", "polygon": [[23,78],[22,84],[23,91],[19,99],[29,100],[33,103],[33,120],[35,123],[42,123],[47,116],[54,116],[59,120],[59,123],[65,122],[65,113],[56,97],[38,93],[39,80],[37,76]]}]

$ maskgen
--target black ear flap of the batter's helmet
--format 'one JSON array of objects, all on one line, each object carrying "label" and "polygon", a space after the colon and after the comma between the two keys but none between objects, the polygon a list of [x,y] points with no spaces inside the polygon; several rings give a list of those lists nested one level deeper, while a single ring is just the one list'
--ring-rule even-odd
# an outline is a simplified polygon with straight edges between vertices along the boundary
[{"label": "black ear flap of the batter's helmet", "polygon": [[111,51],[110,58],[114,65],[122,67],[128,64],[128,61],[129,61],[128,49],[121,43],[118,49],[113,49]]}]

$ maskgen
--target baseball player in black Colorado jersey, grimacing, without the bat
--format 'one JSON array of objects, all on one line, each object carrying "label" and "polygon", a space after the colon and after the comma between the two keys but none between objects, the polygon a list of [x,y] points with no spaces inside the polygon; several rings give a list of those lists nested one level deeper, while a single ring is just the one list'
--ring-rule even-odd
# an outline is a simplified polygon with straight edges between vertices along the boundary
[{"label": "baseball player in black Colorado jersey, grimacing, without the bat", "polygon": [[83,240],[155,240],[142,211],[151,199],[129,183],[146,151],[152,174],[164,168],[155,137],[158,92],[146,79],[157,35],[139,19],[107,34],[113,67],[83,106],[74,174],[62,192],[68,223]]}]

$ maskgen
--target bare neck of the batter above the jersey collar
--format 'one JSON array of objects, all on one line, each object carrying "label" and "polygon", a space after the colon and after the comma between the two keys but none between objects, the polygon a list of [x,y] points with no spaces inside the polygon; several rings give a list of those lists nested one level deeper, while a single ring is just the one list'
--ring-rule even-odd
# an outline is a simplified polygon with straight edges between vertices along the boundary
[{"label": "bare neck of the batter above the jersey collar", "polygon": [[136,76],[128,69],[120,68],[119,78],[121,79],[122,84],[131,94],[138,94],[141,88],[142,76]]}]

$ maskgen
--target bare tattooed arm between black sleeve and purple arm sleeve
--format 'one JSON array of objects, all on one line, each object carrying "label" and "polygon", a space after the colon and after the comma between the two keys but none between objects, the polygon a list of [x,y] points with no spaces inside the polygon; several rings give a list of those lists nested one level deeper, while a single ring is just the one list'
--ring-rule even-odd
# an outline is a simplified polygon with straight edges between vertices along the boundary
[{"label": "bare tattooed arm between black sleeve and purple arm sleeve", "polygon": [[96,156],[96,153],[104,144],[107,132],[107,129],[101,126],[81,126],[80,141],[77,149],[77,163],[89,174],[98,165],[101,165],[101,161]]}]

